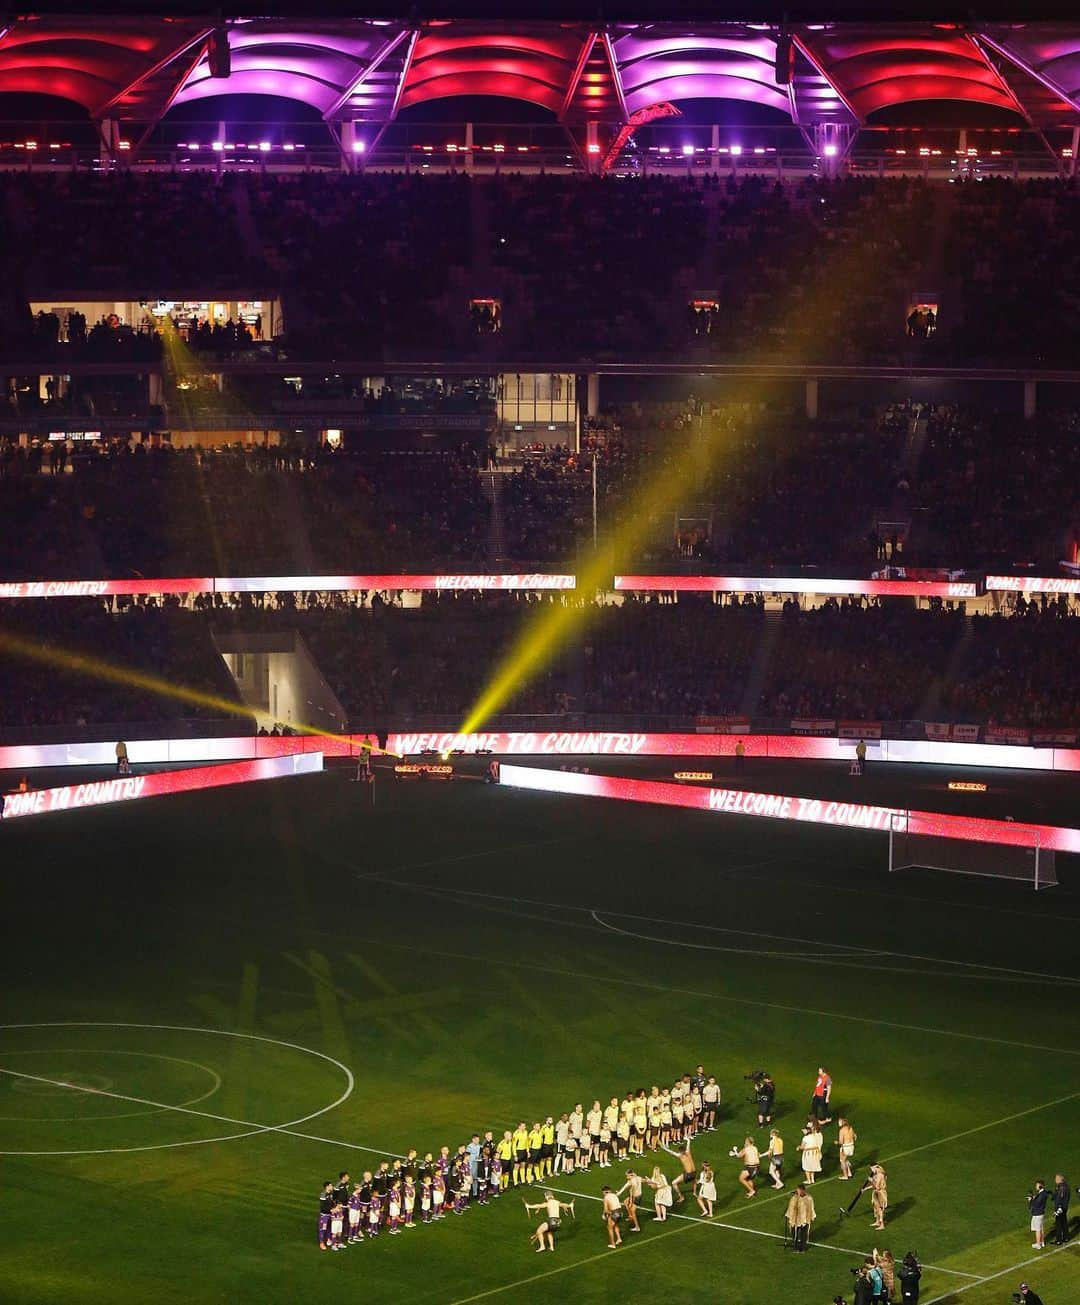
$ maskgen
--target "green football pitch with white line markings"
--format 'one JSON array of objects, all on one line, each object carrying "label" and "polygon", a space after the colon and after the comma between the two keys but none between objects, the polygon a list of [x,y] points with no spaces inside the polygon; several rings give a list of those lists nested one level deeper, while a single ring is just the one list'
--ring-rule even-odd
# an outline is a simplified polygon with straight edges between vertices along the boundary
[{"label": "green football pitch with white line markings", "polygon": [[[1080,1237],[1032,1249],[1036,1178],[1080,1182],[1080,868],[1060,886],[886,870],[883,835],[331,773],[0,826],[0,1300],[609,1300],[828,1305],[874,1245],[921,1305],[1080,1301]],[[687,1199],[610,1251],[600,1185],[554,1254],[510,1190],[322,1254],[322,1181],[473,1130],[670,1084],[721,1122]],[[784,1210],[818,1065],[888,1171],[848,1218],[835,1128],[813,1248]],[[729,1148],[777,1083],[788,1190]],[[633,1161],[631,1161],[633,1163]],[[648,1152],[637,1168],[677,1161]],[[1077,1212],[1073,1198],[1073,1215]],[[1073,1225],[1076,1220],[1073,1219]],[[1047,1220],[1053,1225],[1053,1218]]]}]

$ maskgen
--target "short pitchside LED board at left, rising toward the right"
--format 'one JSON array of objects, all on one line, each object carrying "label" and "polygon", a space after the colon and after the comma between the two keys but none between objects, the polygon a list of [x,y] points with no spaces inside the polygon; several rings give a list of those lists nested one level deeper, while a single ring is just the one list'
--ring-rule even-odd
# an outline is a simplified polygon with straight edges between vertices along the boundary
[{"label": "short pitchside LED board at left, rising toward the right", "polygon": [[63,784],[59,788],[30,788],[8,793],[4,820],[21,816],[48,816],[53,812],[133,803],[142,797],[187,793],[224,784],[247,784],[258,779],[280,779],[286,775],[309,775],[322,770],[322,753],[308,752],[293,757],[266,757],[261,761],[235,761],[223,766],[196,766],[190,770],[159,770],[145,775],[116,775],[91,779],[85,784]]}]

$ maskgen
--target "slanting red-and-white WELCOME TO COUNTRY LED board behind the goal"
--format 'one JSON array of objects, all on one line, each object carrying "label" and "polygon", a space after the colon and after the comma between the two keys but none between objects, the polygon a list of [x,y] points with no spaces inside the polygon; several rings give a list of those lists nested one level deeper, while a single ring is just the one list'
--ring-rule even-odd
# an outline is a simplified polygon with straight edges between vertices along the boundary
[{"label": "slanting red-and-white WELCOME TO COUNTRY LED board behind the goal", "polygon": [[661,806],[685,806],[728,816],[758,816],[768,820],[802,821],[841,829],[887,833],[929,834],[973,843],[1011,843],[1059,852],[1080,851],[1080,829],[1053,825],[1016,825],[1011,821],[973,816],[946,816],[939,812],[912,812],[895,806],[830,801],[819,797],[793,797],[788,793],[755,793],[741,788],[687,788],[664,780],[625,779],[616,775],[590,775],[578,771],[540,770],[503,763],[501,783],[510,788],[580,797],[614,797],[622,801]]}]

